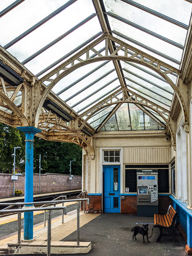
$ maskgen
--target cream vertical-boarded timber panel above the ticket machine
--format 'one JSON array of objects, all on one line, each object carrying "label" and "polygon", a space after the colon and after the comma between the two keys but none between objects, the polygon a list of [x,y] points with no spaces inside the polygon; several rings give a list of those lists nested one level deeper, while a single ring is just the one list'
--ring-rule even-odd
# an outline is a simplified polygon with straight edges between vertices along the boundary
[{"label": "cream vertical-boarded timber panel above the ticket machine", "polygon": [[124,163],[169,162],[170,147],[124,147]]}]

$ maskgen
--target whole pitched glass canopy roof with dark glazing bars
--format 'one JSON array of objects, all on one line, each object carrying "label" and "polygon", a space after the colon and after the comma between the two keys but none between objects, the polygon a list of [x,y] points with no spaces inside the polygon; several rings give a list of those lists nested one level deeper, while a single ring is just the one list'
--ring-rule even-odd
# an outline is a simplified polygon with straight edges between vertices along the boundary
[{"label": "whole pitched glass canopy roof with dark glazing bars", "polygon": [[[179,69],[191,7],[185,0],[4,0],[0,45],[39,79],[106,31]],[[113,42],[112,47],[119,44]],[[94,49],[104,55],[104,41]],[[124,56],[124,49],[117,54]],[[127,51],[127,56],[132,54]],[[168,77],[176,84],[176,73]],[[47,81],[44,84],[48,86]],[[113,102],[87,120],[97,132],[165,127],[174,91],[157,72],[138,63],[106,59],[86,64],[59,80],[52,91],[83,114],[123,87],[127,95],[136,93],[167,112],[159,115],[147,106]],[[115,95],[123,98],[122,91]],[[21,103],[21,91],[14,102]]]}]

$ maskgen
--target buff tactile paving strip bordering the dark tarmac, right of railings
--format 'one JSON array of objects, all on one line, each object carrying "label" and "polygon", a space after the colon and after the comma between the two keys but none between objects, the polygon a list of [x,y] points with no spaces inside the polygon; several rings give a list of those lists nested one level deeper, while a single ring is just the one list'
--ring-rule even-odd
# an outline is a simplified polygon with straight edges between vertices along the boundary
[{"label": "buff tactile paving strip bordering the dark tarmac, right of railings", "polygon": [[[82,215],[80,215],[79,218],[79,226],[83,226],[86,223],[88,223],[89,221],[91,221],[92,219],[94,219],[95,217],[99,216],[100,213],[84,213]],[[62,240],[64,237],[68,236],[69,234],[71,234],[72,232],[74,232],[76,230],[76,218],[70,220],[67,223],[64,223],[62,225],[60,225],[59,227],[55,228],[55,230],[51,231],[51,241],[60,241]]]}]

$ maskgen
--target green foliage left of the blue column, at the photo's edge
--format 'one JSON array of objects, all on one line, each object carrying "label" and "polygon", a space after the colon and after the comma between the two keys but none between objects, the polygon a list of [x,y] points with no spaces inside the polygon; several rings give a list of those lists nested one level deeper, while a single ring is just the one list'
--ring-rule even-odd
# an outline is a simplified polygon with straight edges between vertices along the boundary
[{"label": "green foliage left of the blue column, at the photo's edge", "polygon": [[11,126],[0,123],[0,170],[6,172],[13,169],[13,154],[14,147],[16,149],[15,162],[21,170],[23,169],[22,162],[24,161],[24,134]]}]

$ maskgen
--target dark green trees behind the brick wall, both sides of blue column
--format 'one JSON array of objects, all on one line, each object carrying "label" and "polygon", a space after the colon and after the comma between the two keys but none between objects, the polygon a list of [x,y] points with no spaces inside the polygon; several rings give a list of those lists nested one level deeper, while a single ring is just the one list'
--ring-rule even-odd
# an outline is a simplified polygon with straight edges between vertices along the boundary
[{"label": "dark green trees behind the brick wall, both sides of blue column", "polygon": [[[24,172],[25,155],[24,133],[16,128],[0,123],[0,170],[13,169],[14,146],[16,149],[16,166]],[[82,149],[74,143],[62,143],[47,141],[34,136],[34,173],[39,172],[39,154],[41,155],[41,173],[69,173],[70,160],[75,160],[71,164],[71,174],[81,174]]]}]

